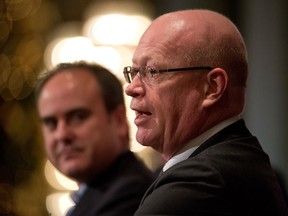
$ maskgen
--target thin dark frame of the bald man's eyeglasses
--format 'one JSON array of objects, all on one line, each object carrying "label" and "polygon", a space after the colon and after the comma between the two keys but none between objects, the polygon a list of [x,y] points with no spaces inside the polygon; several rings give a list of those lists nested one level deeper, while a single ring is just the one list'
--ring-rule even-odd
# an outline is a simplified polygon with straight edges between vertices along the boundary
[{"label": "thin dark frame of the bald man's eyeglasses", "polygon": [[[129,68],[129,70],[128,70]],[[140,70],[141,68],[145,68],[146,70]],[[137,69],[137,71],[132,72],[132,69]],[[150,69],[150,71],[148,71],[147,69]],[[150,74],[151,77],[154,76],[154,74],[158,74],[158,73],[163,73],[163,72],[176,72],[176,71],[195,71],[195,70],[213,70],[214,68],[209,67],[209,66],[198,66],[198,67],[186,67],[186,68],[169,68],[169,69],[154,69],[151,66],[142,66],[139,68],[136,67],[132,67],[132,66],[126,66],[123,69],[123,74],[125,77],[125,80],[127,83],[132,83],[133,79],[136,77],[136,75],[139,73],[140,77],[145,77],[146,74]],[[141,73],[142,72],[142,73]],[[129,75],[130,74],[130,75]],[[134,76],[133,76],[134,75]]]}]

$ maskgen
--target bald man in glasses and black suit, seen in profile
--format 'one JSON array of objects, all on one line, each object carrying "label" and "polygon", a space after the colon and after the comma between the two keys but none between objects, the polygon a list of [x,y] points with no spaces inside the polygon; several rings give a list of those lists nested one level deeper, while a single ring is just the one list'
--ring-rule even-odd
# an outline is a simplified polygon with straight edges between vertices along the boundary
[{"label": "bald man in glasses and black suit, seen in profile", "polygon": [[167,161],[135,215],[288,215],[268,155],[241,113],[247,53],[221,14],[157,18],[124,68],[136,138]]}]

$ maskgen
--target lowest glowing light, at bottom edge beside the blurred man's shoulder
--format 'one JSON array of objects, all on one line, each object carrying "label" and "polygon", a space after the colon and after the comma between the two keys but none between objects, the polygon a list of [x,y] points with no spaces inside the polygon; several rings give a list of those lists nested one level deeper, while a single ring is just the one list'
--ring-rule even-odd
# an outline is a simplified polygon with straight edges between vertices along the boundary
[{"label": "lowest glowing light, at bottom edge beside the blurred man's shoulder", "polygon": [[46,207],[52,216],[64,216],[68,209],[74,205],[69,193],[54,193],[46,197]]}]

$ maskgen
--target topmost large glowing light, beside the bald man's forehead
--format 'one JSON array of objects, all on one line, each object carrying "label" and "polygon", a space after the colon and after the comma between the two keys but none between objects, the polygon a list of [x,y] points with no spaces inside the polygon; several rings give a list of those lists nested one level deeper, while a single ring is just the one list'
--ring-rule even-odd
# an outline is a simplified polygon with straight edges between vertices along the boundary
[{"label": "topmost large glowing light, beside the bald man's forehead", "polygon": [[108,14],[90,18],[83,31],[95,44],[136,45],[150,23],[140,15]]}]

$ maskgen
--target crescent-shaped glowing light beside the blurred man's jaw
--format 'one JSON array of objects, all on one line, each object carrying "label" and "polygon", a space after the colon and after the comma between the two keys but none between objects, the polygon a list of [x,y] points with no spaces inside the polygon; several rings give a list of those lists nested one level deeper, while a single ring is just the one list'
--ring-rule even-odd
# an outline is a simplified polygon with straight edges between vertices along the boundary
[{"label": "crescent-shaped glowing light beside the blurred man's jaw", "polygon": [[45,164],[44,172],[48,183],[55,189],[78,190],[77,183],[60,173],[48,160]]}]

